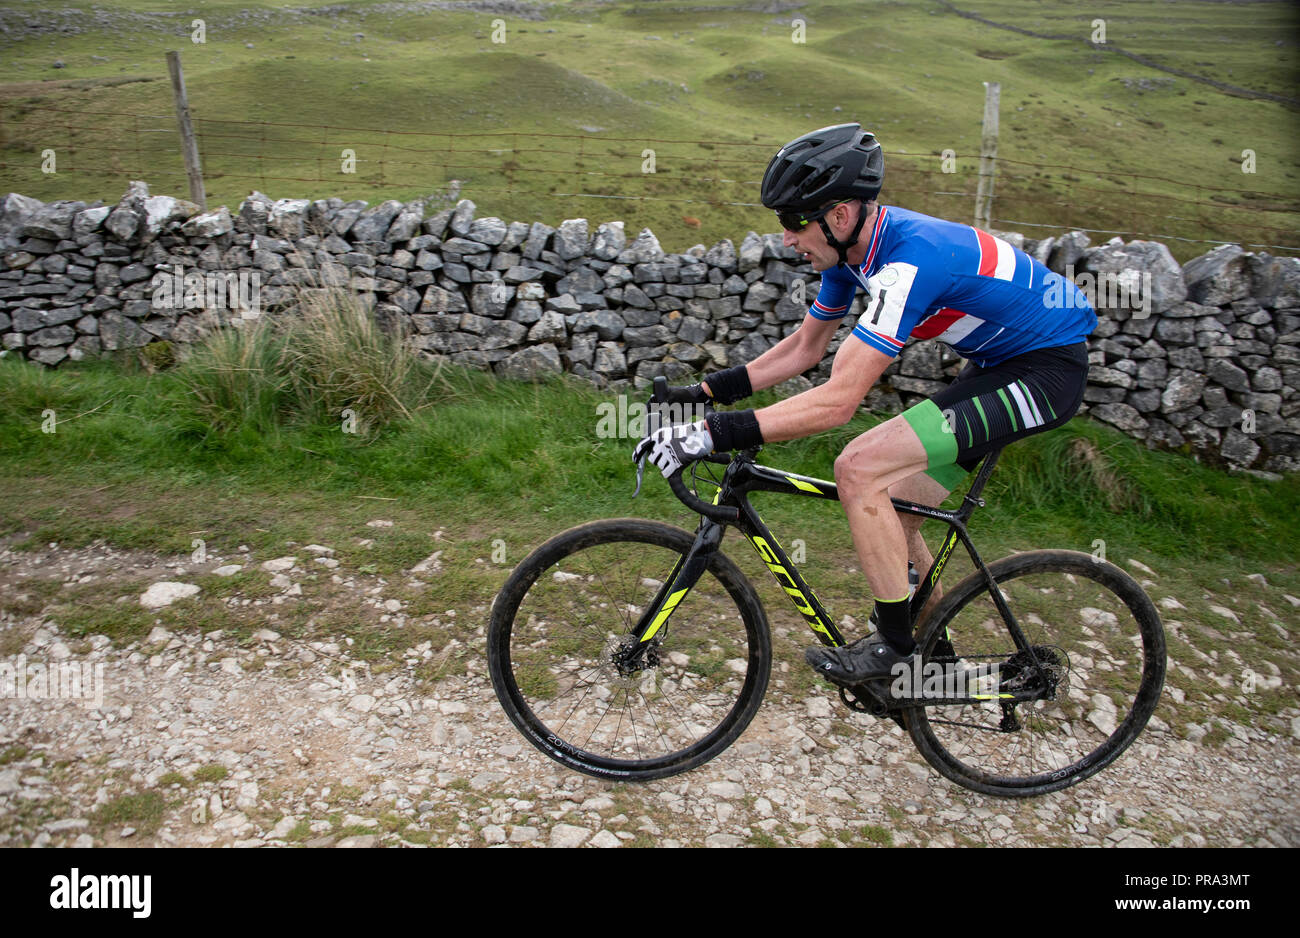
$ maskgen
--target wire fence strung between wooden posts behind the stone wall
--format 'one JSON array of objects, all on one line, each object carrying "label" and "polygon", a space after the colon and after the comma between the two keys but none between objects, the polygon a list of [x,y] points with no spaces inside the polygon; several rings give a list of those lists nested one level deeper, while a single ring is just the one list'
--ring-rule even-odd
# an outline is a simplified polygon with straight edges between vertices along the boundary
[{"label": "wire fence strung between wooden posts behind the stone wall", "polygon": [[[575,200],[620,204],[623,217],[681,212],[771,229],[758,203],[784,140],[698,140],[606,133],[452,133],[194,117],[212,204],[270,197],[413,197],[458,182],[463,197],[532,220]],[[974,214],[979,153],[890,151],[884,200],[957,221]],[[1254,177],[1242,173],[1244,181]],[[0,107],[0,179],[38,197],[116,200],[130,179],[186,196],[174,114]],[[49,196],[57,191],[60,195]],[[72,194],[75,194],[73,196]],[[993,227],[1041,238],[1083,230],[1166,243],[1187,259],[1223,243],[1300,255],[1300,197],[1152,173],[997,158]],[[764,227],[766,225],[766,227]]]}]

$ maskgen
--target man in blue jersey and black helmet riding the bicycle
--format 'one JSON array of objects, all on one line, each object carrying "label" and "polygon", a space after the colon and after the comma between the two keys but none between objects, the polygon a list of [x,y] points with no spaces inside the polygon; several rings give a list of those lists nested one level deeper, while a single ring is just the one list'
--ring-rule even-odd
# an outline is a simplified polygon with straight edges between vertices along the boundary
[{"label": "man in blue jersey and black helmet riding the bicycle", "polygon": [[866,308],[826,383],[758,411],[662,427],[634,451],[668,477],[712,451],[846,424],[909,338],[939,339],[966,359],[948,387],[857,437],[835,461],[858,561],[876,596],[876,631],[840,648],[814,646],[805,657],[850,686],[910,666],[915,653],[905,561],[924,570],[932,556],[922,518],[897,514],[889,499],[939,505],[991,450],[1065,424],[1083,400],[1086,339],[1097,325],[1072,282],[1008,242],[879,204],[883,179],[880,144],[857,123],[815,130],[777,151],[762,200],[777,213],[783,243],[822,273],[820,290],[794,333],[748,365],[673,388],[673,403],[732,404],[802,374],[826,355],[859,288]]}]

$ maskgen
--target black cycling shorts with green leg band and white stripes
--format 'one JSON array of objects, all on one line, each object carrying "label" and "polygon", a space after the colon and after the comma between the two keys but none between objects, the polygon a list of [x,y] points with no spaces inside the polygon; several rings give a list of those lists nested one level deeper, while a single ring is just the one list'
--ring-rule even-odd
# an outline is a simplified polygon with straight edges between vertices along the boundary
[{"label": "black cycling shorts with green leg band and white stripes", "polygon": [[1087,343],[1039,348],[988,368],[967,362],[902,416],[926,447],[926,474],[952,491],[988,452],[1070,420],[1087,383]]}]

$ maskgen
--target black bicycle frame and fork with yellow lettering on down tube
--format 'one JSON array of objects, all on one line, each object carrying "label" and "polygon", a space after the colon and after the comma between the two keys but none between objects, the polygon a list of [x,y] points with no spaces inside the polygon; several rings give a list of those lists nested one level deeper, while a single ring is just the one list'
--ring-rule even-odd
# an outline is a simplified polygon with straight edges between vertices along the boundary
[{"label": "black bicycle frame and fork with yellow lettering on down tube", "polygon": [[[940,547],[939,553],[935,556],[933,564],[918,585],[916,591],[911,598],[910,612],[913,621],[916,620],[918,613],[924,608],[926,602],[933,592],[935,583],[939,582],[939,576],[942,573],[944,566],[952,555],[953,547],[961,542],[966,548],[966,552],[970,555],[971,563],[974,563],[975,568],[983,573],[984,579],[988,583],[989,594],[993,596],[993,603],[1002,615],[1002,620],[1006,622],[1008,629],[1011,633],[1017,650],[1026,651],[1030,648],[1028,640],[1020,631],[1019,624],[1015,621],[1011,609],[1008,607],[1001,590],[997,589],[997,582],[988,572],[988,566],[984,565],[979,552],[975,550],[975,544],[971,543],[970,535],[966,533],[966,522],[970,520],[971,514],[974,514],[976,508],[984,505],[984,500],[979,495],[984,490],[984,485],[988,482],[1000,453],[1001,450],[994,450],[984,457],[984,461],[980,464],[980,468],[975,474],[975,481],[962,498],[962,504],[956,511],[932,508],[930,505],[923,505],[915,501],[905,501],[902,499],[892,499],[892,501],[894,509],[904,514],[918,514],[926,518],[933,518],[935,521],[942,521],[948,525],[948,537],[944,538],[944,543]],[[722,460],[714,457],[712,461],[720,463]],[[714,504],[729,505],[740,512],[738,518],[733,522],[736,529],[745,535],[750,544],[754,546],[754,550],[758,551],[763,563],[767,564],[767,569],[776,578],[776,582],[781,585],[781,589],[785,590],[786,595],[789,595],[794,608],[803,617],[805,622],[807,622],[809,627],[818,637],[818,639],[823,644],[828,646],[844,644],[844,635],[836,627],[831,616],[827,613],[826,607],[822,605],[822,602],[816,598],[816,594],[812,592],[807,581],[803,579],[796,565],[790,563],[789,556],[781,548],[780,543],[777,543],[767,525],[763,524],[763,520],[758,516],[758,512],[754,511],[754,507],[749,503],[749,492],[755,491],[802,495],[807,498],[838,501],[838,487],[836,483],[827,482],[826,479],[811,478],[809,475],[800,475],[797,473],[783,472],[780,469],[759,465],[754,461],[753,452],[748,451],[740,453],[734,459],[727,460],[727,472],[723,475]],[[644,650],[646,643],[649,643],[659,633],[672,616],[672,611],[690,591],[690,587],[696,585],[705,569],[707,569],[710,560],[722,543],[724,527],[725,525],[714,521],[712,518],[701,517],[699,527],[696,530],[694,544],[692,544],[690,550],[684,556],[679,557],[672,573],[664,581],[663,586],[659,587],[654,602],[646,608],[641,620],[637,622],[633,634],[637,638],[636,647],[638,650]]]}]

